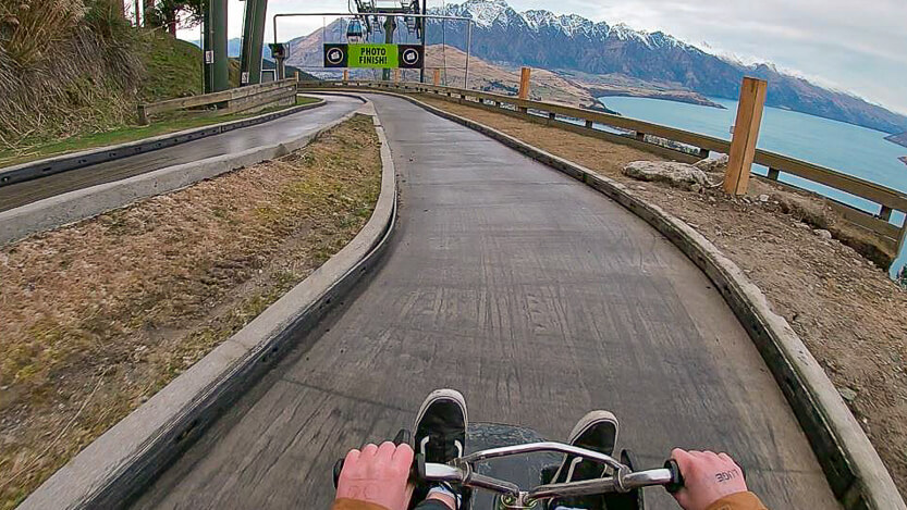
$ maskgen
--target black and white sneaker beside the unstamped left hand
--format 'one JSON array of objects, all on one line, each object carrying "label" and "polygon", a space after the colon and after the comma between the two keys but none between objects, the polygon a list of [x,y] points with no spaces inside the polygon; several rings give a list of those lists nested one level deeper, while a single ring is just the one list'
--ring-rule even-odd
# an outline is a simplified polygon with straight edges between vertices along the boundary
[{"label": "black and white sneaker beside the unstamped left hand", "polygon": [[[414,449],[425,456],[426,462],[445,464],[466,451],[466,400],[455,389],[436,389],[422,402],[413,427]],[[451,494],[462,500],[462,489],[443,484],[434,487],[417,487],[413,500],[419,500],[431,490]],[[419,496],[417,499],[416,496]]]}]

